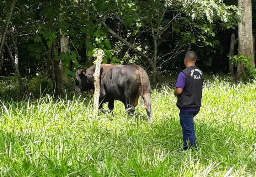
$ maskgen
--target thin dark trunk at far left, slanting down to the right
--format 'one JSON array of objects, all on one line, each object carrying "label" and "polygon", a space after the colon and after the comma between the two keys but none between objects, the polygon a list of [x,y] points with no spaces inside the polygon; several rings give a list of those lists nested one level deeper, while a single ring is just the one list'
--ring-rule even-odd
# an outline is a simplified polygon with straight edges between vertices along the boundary
[{"label": "thin dark trunk at far left, slanting down to the right", "polygon": [[22,81],[22,78],[21,78],[21,75],[20,75],[20,72],[19,72],[19,69],[18,69],[18,51],[15,49],[15,58],[14,58],[13,55],[12,55],[11,49],[7,45],[7,43],[5,43],[5,46],[6,46],[7,52],[10,56],[10,59],[11,59],[12,64],[14,66],[15,73],[16,73],[17,78],[18,78],[18,82],[19,82],[19,86],[20,86],[20,94],[23,95],[27,91],[27,88],[25,86],[25,83],[23,83],[23,81]]}]

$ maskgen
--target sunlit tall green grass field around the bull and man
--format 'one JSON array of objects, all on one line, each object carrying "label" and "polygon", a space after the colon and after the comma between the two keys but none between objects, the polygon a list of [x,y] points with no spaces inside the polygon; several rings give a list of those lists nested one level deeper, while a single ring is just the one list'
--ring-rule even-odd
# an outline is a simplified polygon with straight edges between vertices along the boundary
[{"label": "sunlit tall green grass field around the bull and man", "polygon": [[167,86],[153,90],[153,122],[139,107],[128,117],[118,101],[114,116],[91,119],[86,97],[2,99],[0,176],[256,176],[255,84],[205,82],[197,153],[178,153],[182,130]]}]

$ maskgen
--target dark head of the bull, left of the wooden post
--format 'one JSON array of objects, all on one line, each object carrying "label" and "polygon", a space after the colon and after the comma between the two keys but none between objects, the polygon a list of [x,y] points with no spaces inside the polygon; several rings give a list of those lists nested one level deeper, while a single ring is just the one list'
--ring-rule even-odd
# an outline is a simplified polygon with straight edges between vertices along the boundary
[{"label": "dark head of the bull, left of the wooden post", "polygon": [[75,73],[75,91],[81,93],[93,89],[93,83],[90,81],[90,75],[86,69],[78,68]]}]

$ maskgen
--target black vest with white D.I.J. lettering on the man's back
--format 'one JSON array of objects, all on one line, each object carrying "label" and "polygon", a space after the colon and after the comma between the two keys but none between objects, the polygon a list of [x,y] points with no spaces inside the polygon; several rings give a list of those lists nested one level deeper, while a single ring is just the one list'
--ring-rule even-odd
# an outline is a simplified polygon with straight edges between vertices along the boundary
[{"label": "black vest with white D.I.J. lettering on the man's back", "polygon": [[204,74],[196,66],[188,67],[182,70],[186,75],[186,85],[183,92],[178,96],[178,108],[196,108],[201,107],[202,89]]}]

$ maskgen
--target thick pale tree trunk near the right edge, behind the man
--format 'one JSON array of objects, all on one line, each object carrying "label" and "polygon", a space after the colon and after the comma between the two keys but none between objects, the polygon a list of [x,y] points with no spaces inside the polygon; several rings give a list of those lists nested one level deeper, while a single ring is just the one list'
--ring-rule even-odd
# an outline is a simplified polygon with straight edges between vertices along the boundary
[{"label": "thick pale tree trunk near the right edge, behind the man", "polygon": [[[238,0],[238,7],[242,8],[241,20],[238,23],[238,51],[245,56],[252,56],[254,58],[253,39],[252,39],[252,3],[251,0]],[[255,67],[254,59],[251,64]],[[245,67],[240,63],[242,72]],[[240,75],[240,73],[238,73]],[[237,77],[238,81],[241,77]]]}]

